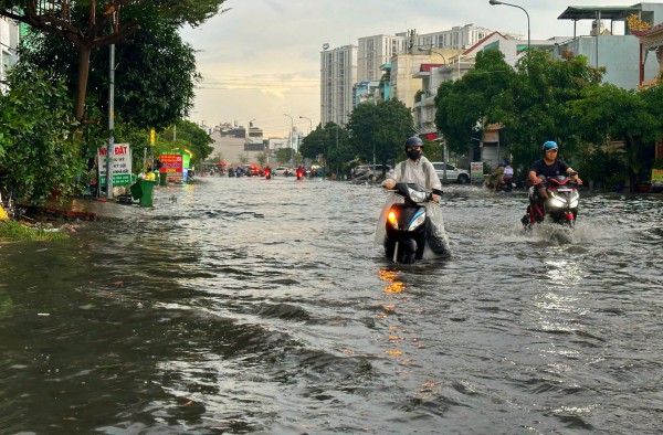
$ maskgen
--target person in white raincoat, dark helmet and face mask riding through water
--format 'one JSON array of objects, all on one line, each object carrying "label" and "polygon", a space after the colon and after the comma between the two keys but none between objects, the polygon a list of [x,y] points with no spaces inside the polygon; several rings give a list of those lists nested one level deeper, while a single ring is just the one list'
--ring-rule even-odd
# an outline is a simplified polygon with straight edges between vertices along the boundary
[{"label": "person in white raincoat, dark helmet and face mask riding through water", "polygon": [[[444,230],[444,219],[442,216],[442,209],[440,206],[440,193],[442,193],[442,183],[435,172],[433,163],[422,156],[423,142],[418,136],[413,136],[406,140],[403,145],[408,159],[401,161],[393,168],[388,174],[388,178],[382,181],[382,187],[386,189],[393,189],[397,182],[417,183],[425,188],[428,191],[433,192],[432,201],[425,204],[427,211],[427,245],[438,255],[450,256],[451,250],[449,247],[449,237]],[[387,212],[391,205],[396,202],[403,202],[402,198],[399,198],[394,193],[390,193],[387,197],[378,225],[376,229],[376,244],[383,244],[386,230],[385,224],[387,222]]]}]

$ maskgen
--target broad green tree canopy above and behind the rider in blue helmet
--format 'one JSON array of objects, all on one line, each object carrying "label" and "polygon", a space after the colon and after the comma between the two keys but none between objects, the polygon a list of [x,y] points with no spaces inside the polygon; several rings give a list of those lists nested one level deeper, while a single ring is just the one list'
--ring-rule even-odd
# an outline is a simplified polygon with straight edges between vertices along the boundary
[{"label": "broad green tree canopy above and behind the rider in blue helmet", "polygon": [[461,81],[443,83],[435,98],[435,124],[454,152],[464,152],[477,125],[504,125],[501,140],[519,167],[540,158],[540,145],[556,140],[567,158],[580,146],[568,104],[597,86],[601,71],[587,59],[554,60],[532,51],[511,68],[498,52],[482,52],[475,70]]}]

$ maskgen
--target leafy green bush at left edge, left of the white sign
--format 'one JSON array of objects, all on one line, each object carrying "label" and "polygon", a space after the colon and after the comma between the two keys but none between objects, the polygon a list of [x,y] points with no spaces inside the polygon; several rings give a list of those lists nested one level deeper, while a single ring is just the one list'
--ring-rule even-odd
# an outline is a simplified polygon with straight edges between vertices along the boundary
[{"label": "leafy green bush at left edge, left of the white sign", "polygon": [[51,189],[72,191],[82,167],[71,98],[53,74],[8,75],[0,94],[0,188],[39,203]]}]

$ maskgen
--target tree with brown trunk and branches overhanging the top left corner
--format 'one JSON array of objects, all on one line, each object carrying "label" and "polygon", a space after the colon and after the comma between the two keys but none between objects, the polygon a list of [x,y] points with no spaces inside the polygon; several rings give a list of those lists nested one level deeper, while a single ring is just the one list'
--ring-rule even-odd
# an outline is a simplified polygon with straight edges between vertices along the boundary
[{"label": "tree with brown trunk and branches overhanging the top left corner", "polygon": [[219,11],[225,0],[107,0],[99,4],[96,0],[60,0],[38,2],[34,0],[0,0],[0,15],[23,22],[33,29],[66,40],[77,49],[77,73],[75,93],[75,116],[86,119],[85,98],[92,52],[101,46],[126,42],[140,25],[129,18],[119,21],[119,11],[128,6],[154,6],[176,25],[185,22],[199,24],[213,12]]}]

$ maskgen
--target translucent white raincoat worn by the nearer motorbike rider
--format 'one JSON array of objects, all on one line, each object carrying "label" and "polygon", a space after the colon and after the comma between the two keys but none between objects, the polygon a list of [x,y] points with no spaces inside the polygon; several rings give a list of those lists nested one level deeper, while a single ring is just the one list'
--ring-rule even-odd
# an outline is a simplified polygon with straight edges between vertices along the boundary
[{"label": "translucent white raincoat worn by the nearer motorbike rider", "polygon": [[[435,168],[425,157],[420,157],[418,161],[408,159],[401,161],[393,168],[393,171],[389,173],[389,178],[394,182],[407,182],[417,183],[424,187],[427,190],[432,191],[433,189],[442,190],[442,183],[440,178],[435,173]],[[393,192],[390,192],[378,219],[378,225],[376,227],[375,243],[382,245],[385,243],[385,223],[387,222],[387,212],[393,203],[403,202],[403,199]],[[446,231],[444,231],[444,219],[442,217],[442,208],[435,202],[428,202],[425,204],[425,213],[429,219],[427,246],[430,247],[435,254],[449,256],[451,250],[449,248],[449,237]],[[425,254],[424,254],[425,255]]]}]

